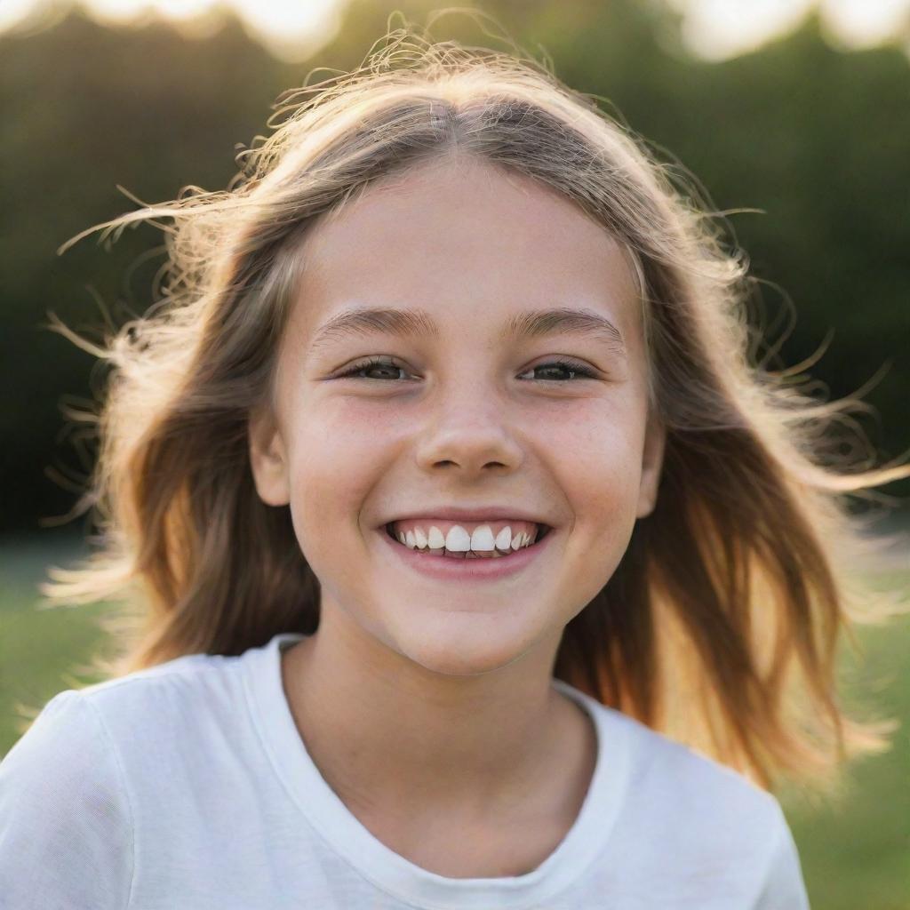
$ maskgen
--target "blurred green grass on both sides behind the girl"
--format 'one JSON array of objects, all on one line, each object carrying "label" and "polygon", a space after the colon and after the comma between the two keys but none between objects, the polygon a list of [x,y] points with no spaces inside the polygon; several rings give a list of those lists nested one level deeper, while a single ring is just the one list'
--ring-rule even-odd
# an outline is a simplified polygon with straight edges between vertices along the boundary
[{"label": "blurred green grass on both sides behind the girl", "polygon": [[[104,604],[35,609],[45,565],[68,564],[80,552],[65,536],[45,538],[54,545],[0,547],[0,755],[18,738],[17,705],[40,707],[62,689],[94,681],[83,667],[103,643],[95,623]],[[879,581],[910,591],[910,570]],[[870,709],[864,718],[899,719],[894,747],[854,766],[836,810],[813,809],[796,795],[781,794],[781,802],[813,910],[910,910],[910,617],[865,627],[859,639],[858,659],[844,653],[855,680],[844,703],[861,699]]]}]

